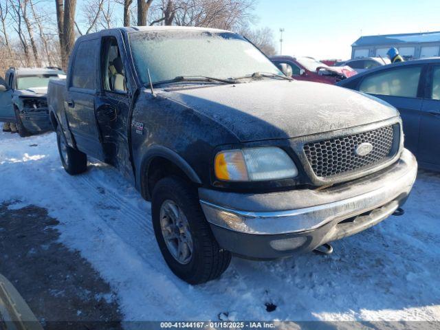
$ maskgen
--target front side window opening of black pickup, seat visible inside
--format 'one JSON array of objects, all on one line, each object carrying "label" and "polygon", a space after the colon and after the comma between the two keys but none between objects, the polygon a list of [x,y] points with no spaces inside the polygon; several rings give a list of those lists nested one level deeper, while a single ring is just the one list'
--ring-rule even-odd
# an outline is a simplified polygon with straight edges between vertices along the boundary
[{"label": "front side window opening of black pickup, seat visible inside", "polygon": [[104,90],[126,93],[126,78],[124,64],[118,47],[118,41],[114,37],[105,38],[102,47],[102,83]]}]

